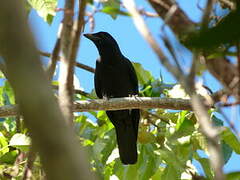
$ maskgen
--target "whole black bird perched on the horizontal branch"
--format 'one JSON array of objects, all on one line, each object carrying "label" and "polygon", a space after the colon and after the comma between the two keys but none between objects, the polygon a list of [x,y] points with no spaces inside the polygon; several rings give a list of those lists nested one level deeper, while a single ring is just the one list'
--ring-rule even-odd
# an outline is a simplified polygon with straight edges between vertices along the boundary
[{"label": "whole black bird perched on the horizontal branch", "polygon": [[[116,40],[107,32],[84,34],[97,47],[94,76],[98,98],[118,98],[138,95],[138,80],[132,63],[123,56]],[[139,109],[106,111],[115,126],[120,159],[123,164],[137,162]]]}]

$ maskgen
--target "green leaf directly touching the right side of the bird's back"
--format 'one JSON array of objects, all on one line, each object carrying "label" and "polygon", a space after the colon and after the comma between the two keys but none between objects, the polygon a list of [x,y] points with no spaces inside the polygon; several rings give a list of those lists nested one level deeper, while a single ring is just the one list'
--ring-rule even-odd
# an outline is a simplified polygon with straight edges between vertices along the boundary
[{"label": "green leaf directly touching the right side of the bird's back", "polygon": [[145,70],[140,63],[132,63],[132,64],[135,68],[138,81],[141,85],[144,85],[154,79],[152,74],[149,71]]}]

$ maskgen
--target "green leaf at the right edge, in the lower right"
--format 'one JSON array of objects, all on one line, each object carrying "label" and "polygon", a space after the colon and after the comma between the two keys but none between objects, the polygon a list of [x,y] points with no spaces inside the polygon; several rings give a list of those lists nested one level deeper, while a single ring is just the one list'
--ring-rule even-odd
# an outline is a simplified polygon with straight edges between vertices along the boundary
[{"label": "green leaf at the right edge, in the lower right", "polygon": [[240,142],[228,127],[222,131],[221,137],[237,154],[240,154]]}]

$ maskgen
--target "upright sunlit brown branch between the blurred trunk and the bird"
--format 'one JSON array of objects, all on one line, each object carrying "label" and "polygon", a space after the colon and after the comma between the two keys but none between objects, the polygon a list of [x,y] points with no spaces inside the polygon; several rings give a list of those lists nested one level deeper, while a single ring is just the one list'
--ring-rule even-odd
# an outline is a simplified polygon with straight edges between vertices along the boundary
[{"label": "upright sunlit brown branch between the blurred trunk and the bird", "polygon": [[70,59],[72,48],[72,29],[74,0],[65,1],[63,28],[61,32],[62,60],[59,72],[59,104],[67,123],[72,123],[74,60]]}]

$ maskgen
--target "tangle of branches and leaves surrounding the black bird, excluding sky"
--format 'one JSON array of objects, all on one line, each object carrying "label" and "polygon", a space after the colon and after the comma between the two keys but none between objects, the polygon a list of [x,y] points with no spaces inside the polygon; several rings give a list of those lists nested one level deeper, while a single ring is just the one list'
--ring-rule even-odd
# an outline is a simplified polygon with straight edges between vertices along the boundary
[{"label": "tangle of branches and leaves surrounding the black bird, excluding sky", "polygon": [[[3,2],[0,179],[240,178],[240,172],[223,171],[232,154],[240,154],[238,129],[230,113],[223,113],[225,108],[239,108],[240,101],[238,2],[206,1],[200,23],[192,22],[174,1],[148,2],[151,11],[139,8],[132,0],[79,0],[75,5],[74,1],[66,1],[65,7],[58,7],[57,0],[28,0],[23,6]],[[216,15],[216,8],[227,13]],[[31,9],[48,24],[57,12],[64,12],[63,28],[51,53],[34,47],[26,23]],[[121,98],[109,103],[93,100],[94,90],[74,89],[75,67],[94,72],[94,68],[75,60],[84,26],[94,30],[98,13],[113,19],[132,18],[176,83],[164,82],[140,63],[133,63],[139,79],[138,100]],[[169,27],[181,45],[192,52],[189,67],[180,63],[181,56],[167,35],[161,37],[164,47],[157,43],[143,17],[164,21],[164,27]],[[49,62],[40,64],[39,56],[48,57]],[[58,64],[59,79],[55,77],[50,86],[49,79]],[[222,88],[211,92],[198,83],[205,72],[210,72]],[[139,158],[136,165],[123,166],[113,125],[104,110],[129,107],[142,109]],[[196,163],[200,163],[203,173]]]}]

